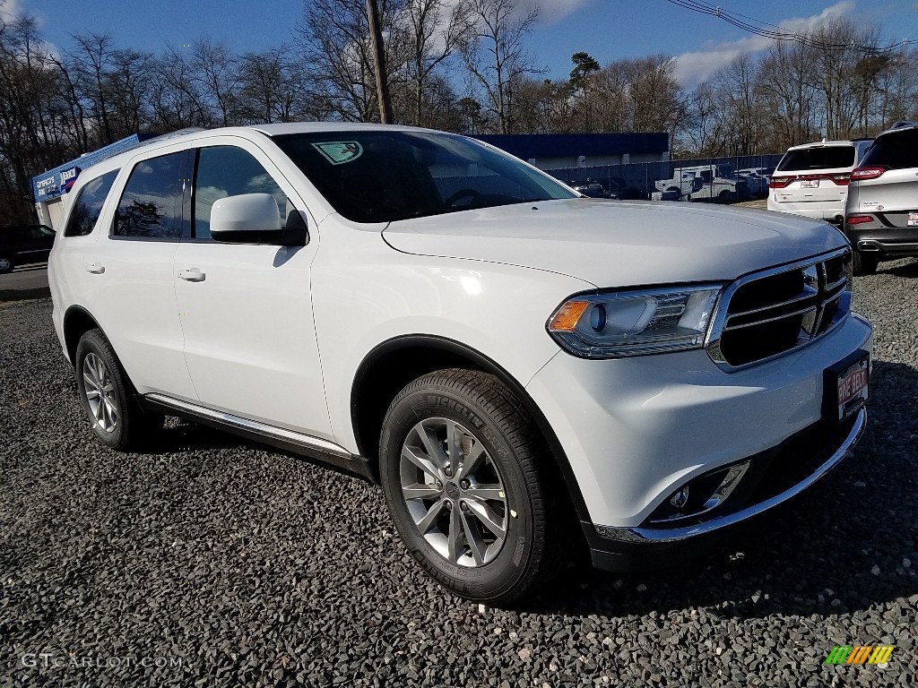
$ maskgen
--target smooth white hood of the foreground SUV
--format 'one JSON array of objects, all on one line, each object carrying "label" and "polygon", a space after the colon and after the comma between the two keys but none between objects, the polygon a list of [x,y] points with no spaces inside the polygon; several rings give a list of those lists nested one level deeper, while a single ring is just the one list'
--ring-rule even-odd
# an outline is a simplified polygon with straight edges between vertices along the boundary
[{"label": "smooth white hood of the foreground SUV", "polygon": [[406,253],[521,265],[598,287],[716,282],[845,245],[831,225],[753,210],[577,198],[391,223]]}]

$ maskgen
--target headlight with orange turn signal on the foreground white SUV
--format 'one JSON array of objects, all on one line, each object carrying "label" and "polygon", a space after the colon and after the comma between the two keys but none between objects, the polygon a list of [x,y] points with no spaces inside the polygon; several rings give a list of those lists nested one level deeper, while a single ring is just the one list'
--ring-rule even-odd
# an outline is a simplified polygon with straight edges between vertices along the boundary
[{"label": "headlight with orange turn signal on the foreground white SUV", "polygon": [[579,294],[546,327],[565,350],[587,359],[700,349],[720,294],[717,284]]}]

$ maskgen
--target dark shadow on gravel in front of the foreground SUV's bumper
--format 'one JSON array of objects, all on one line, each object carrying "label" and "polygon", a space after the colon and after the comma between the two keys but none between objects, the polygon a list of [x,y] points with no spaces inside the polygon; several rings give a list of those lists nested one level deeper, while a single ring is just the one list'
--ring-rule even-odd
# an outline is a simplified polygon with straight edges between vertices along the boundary
[{"label": "dark shadow on gravel in front of the foreground SUV's bumper", "polygon": [[890,621],[906,621],[896,601],[918,593],[918,371],[876,361],[871,388],[868,429],[855,453],[807,494],[737,533],[727,549],[646,573],[580,562],[520,609],[644,616],[703,607],[761,618],[879,606],[891,607]]}]

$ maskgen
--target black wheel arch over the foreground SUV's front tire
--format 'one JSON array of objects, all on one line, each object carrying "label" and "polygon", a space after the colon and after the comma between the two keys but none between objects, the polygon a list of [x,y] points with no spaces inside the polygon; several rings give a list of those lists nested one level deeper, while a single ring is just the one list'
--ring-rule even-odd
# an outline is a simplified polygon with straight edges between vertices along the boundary
[{"label": "black wheel arch over the foreground SUV's front tire", "polygon": [[418,334],[388,339],[371,350],[357,369],[351,390],[351,421],[357,447],[369,460],[375,479],[379,479],[378,438],[392,400],[421,375],[457,367],[494,375],[520,399],[554,457],[577,516],[588,520],[587,505],[565,450],[525,387],[496,361],[450,338]]}]

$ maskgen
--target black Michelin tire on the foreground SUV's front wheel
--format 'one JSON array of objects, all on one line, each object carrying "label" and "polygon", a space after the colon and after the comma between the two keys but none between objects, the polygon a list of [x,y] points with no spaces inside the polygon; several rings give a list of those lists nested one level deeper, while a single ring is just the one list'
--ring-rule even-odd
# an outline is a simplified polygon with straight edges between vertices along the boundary
[{"label": "black Michelin tire on the foreground SUV's front wheel", "polygon": [[[443,554],[442,548],[438,551],[429,539],[421,535],[415,516],[409,511],[409,499],[402,491],[405,471],[402,448],[409,441],[409,433],[415,432],[421,423],[435,424],[442,420],[458,424],[460,431],[467,430],[470,441],[474,442],[469,447],[476,448],[480,441],[487,456],[476,465],[480,467],[487,461],[487,465],[497,472],[498,483],[503,486],[503,491],[499,493],[505,496],[502,508],[499,502],[489,504],[494,508],[491,513],[503,511],[505,536],[493,559],[484,563],[476,559],[474,564],[460,565],[453,563],[448,554]],[[565,543],[569,543],[571,538],[564,538],[566,524],[569,523],[565,519],[566,511],[561,507],[565,500],[555,494],[557,488],[554,486],[559,482],[552,480],[551,464],[546,462],[549,457],[540,437],[520,400],[496,377],[485,372],[461,369],[431,372],[405,387],[389,406],[379,443],[380,477],[389,513],[412,556],[433,580],[448,591],[480,602],[508,604],[532,593],[566,562],[568,548]],[[465,459],[475,453],[472,449],[466,451],[458,456]],[[447,453],[442,456],[448,459]],[[414,470],[414,466],[405,465],[409,472]],[[452,478],[447,478],[445,476],[451,473],[441,472],[442,490],[439,496],[430,499],[434,506],[438,501],[444,503],[438,518],[447,520],[438,520],[437,523],[445,524],[442,528],[446,528],[446,532],[433,527],[427,531],[429,537],[448,542],[449,528],[453,525],[450,518],[468,519],[468,516],[476,515],[474,510],[465,508],[468,504],[464,504],[461,497],[466,495],[465,490],[469,487],[466,484],[460,492],[460,484],[456,482],[459,474],[461,470]],[[459,495],[454,500],[450,499],[451,488],[453,496]],[[475,486],[471,489],[474,491]],[[446,505],[446,502],[455,506]],[[415,513],[420,513],[417,511],[419,501],[416,499],[412,504],[415,505]],[[431,506],[429,514],[434,506]],[[457,512],[459,506],[463,507],[465,516]],[[424,502],[420,508],[422,512],[427,503]],[[465,521],[461,523],[465,527],[465,539],[457,541],[464,543],[464,554],[457,561],[463,557],[468,561],[474,553],[469,542],[472,530]],[[471,528],[478,536],[485,534],[492,537],[487,534],[487,528],[477,525]],[[458,551],[458,547],[453,551]]]}]

